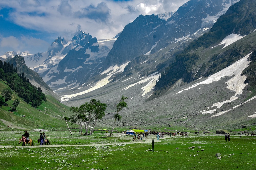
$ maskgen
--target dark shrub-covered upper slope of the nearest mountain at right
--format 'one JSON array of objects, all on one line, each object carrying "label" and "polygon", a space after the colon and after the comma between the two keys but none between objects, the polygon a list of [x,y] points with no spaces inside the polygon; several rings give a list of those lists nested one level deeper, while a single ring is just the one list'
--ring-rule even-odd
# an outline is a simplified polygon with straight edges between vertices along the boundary
[{"label": "dark shrub-covered upper slope of the nearest mountain at right", "polygon": [[252,0],[241,0],[231,6],[208,33],[191,42],[181,54],[176,55],[174,62],[161,73],[156,90],[171,87],[179,79],[189,83],[200,77],[209,76],[237,61],[242,53],[246,55],[253,51],[254,41],[246,45],[237,44],[228,50],[227,47],[222,50],[215,46],[228,35],[245,36],[252,33],[256,29],[253,22],[256,20],[255,9],[256,2]]}]

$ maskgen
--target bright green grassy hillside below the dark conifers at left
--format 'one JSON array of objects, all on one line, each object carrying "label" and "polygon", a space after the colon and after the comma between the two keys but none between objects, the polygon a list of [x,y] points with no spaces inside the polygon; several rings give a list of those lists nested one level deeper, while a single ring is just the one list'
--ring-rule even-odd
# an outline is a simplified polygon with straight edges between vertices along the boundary
[{"label": "bright green grassy hillside below the dark conifers at left", "polygon": [[[0,81],[0,93],[5,88],[9,88],[9,86],[3,81]],[[64,120],[61,120],[59,115],[69,116],[72,114],[69,107],[61,104],[49,95],[46,95],[46,97],[47,101],[43,101],[35,109],[13,93],[12,100],[7,101],[8,106],[2,106],[0,108],[0,129],[6,131],[16,129],[66,129],[67,125]],[[11,113],[10,106],[12,106],[16,98],[20,103],[17,110]],[[25,117],[22,115],[25,115]],[[70,127],[77,127],[77,125],[71,125],[70,123],[69,125]]]}]

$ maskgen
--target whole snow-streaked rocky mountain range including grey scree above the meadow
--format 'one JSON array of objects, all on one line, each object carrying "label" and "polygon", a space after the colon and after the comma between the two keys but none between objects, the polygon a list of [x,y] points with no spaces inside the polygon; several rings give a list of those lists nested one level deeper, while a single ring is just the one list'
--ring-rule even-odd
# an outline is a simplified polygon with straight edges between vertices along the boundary
[{"label": "whole snow-streaked rocky mountain range including grey scree above the meadow", "polygon": [[122,95],[128,108],[118,126],[252,125],[255,9],[252,0],[192,0],[167,21],[137,17],[113,48],[82,31],[67,44],[59,38],[52,66],[35,70],[68,106],[106,103],[103,126],[113,123]]}]

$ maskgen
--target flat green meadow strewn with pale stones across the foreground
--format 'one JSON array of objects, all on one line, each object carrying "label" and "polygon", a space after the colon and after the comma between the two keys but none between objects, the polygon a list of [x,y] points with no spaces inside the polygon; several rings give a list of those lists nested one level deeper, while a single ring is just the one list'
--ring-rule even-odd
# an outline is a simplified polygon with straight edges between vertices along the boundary
[{"label": "flat green meadow strewn with pale stones across the foreground", "polygon": [[51,145],[40,146],[39,132],[33,131],[34,146],[22,147],[18,139],[24,131],[0,132],[0,169],[255,169],[256,137],[251,136],[231,135],[226,142],[224,135],[190,133],[134,141],[132,136],[107,137],[101,131],[91,136],[45,133]]}]

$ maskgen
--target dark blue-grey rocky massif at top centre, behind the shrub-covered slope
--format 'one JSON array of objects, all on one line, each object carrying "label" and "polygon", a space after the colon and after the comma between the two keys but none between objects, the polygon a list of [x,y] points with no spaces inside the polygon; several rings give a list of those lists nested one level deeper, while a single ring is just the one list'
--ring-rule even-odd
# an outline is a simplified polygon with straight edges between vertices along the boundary
[{"label": "dark blue-grey rocky massif at top centre, behind the shrub-covered slope", "polygon": [[236,1],[192,0],[165,20],[155,15],[137,17],[127,24],[106,57],[106,67],[123,64],[144,54],[154,54],[176,39],[210,28]]}]

